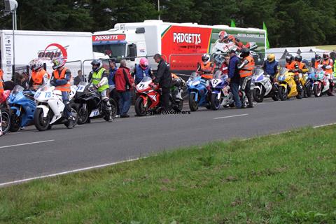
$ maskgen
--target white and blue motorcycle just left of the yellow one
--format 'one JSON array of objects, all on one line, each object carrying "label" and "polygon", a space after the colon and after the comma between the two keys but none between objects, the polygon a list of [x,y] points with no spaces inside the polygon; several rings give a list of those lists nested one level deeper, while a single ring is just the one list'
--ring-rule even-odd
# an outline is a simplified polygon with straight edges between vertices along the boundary
[{"label": "white and blue motorcycle just left of the yellow one", "polygon": [[255,69],[252,77],[253,99],[255,102],[261,103],[265,97],[272,97],[274,101],[279,100],[278,87],[272,85],[271,78],[263,69]]}]

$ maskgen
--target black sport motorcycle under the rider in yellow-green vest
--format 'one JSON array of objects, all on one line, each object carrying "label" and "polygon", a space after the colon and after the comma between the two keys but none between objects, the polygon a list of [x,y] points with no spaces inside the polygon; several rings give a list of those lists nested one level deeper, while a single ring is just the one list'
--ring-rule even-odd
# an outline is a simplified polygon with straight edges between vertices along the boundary
[{"label": "black sport motorcycle under the rider in yellow-green vest", "polygon": [[116,101],[109,99],[111,104],[111,110],[109,110],[97,89],[90,83],[80,82],[78,84],[74,102],[78,104],[78,125],[88,123],[90,118],[104,118],[109,122],[116,117]]}]

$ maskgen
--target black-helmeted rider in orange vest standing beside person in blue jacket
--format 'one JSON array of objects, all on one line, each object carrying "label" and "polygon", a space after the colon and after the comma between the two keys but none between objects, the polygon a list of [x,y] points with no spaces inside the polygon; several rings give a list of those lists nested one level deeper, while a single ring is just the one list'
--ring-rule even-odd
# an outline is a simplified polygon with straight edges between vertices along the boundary
[{"label": "black-helmeted rider in orange vest standing beside person in blue jacket", "polygon": [[238,64],[239,76],[240,76],[240,87],[243,92],[245,92],[248,99],[248,107],[253,107],[252,97],[251,97],[251,76],[253,75],[253,69],[255,62],[253,57],[250,55],[250,50],[248,48],[241,49],[241,62]]}]

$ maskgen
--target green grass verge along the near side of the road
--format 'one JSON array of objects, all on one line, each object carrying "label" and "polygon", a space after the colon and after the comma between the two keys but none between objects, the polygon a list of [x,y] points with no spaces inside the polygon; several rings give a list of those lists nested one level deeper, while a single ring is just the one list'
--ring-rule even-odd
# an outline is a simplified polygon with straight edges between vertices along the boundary
[{"label": "green grass verge along the near side of the road", "polygon": [[336,223],[335,136],[214,142],[1,188],[0,223]]}]

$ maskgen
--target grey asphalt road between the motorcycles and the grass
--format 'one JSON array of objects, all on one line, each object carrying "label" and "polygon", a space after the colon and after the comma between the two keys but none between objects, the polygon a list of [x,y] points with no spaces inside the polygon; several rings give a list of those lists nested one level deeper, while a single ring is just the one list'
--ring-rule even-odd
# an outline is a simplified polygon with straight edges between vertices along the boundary
[{"label": "grey asphalt road between the motorcycles and the grass", "polygon": [[[185,104],[184,109],[189,110]],[[134,109],[131,109],[133,112]],[[267,99],[253,109],[200,109],[186,115],[118,118],[113,123],[93,120],[67,130],[55,125],[34,127],[0,138],[0,186],[74,169],[139,158],[180,146],[207,141],[272,134],[307,125],[336,122],[336,97]],[[17,146],[13,146],[17,145]]]}]

